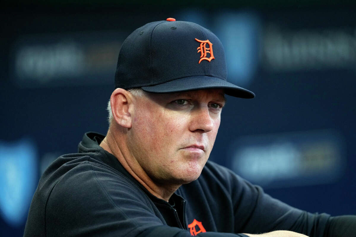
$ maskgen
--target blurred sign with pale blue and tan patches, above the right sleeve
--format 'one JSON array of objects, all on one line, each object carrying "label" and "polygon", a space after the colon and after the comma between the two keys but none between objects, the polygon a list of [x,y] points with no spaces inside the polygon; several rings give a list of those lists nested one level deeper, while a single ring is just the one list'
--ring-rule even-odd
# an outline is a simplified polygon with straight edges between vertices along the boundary
[{"label": "blurred sign with pale blue and tan patches, above the right sleeve", "polygon": [[231,154],[232,169],[265,188],[332,183],[346,162],[343,140],[333,130],[242,137]]}]

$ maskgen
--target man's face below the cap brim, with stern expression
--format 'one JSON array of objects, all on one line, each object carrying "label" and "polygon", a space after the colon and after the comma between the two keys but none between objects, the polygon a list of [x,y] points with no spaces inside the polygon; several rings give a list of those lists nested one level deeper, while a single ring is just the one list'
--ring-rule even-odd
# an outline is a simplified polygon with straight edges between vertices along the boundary
[{"label": "man's face below the cap brim, with stern expression", "polygon": [[128,131],[132,157],[156,183],[197,179],[218,133],[223,90],[145,92],[134,103]]}]

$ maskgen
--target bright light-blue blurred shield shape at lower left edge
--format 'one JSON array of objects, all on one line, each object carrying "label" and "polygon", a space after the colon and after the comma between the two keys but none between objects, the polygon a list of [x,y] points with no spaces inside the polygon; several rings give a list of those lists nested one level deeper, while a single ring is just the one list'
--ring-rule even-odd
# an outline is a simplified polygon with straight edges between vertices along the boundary
[{"label": "bright light-blue blurred shield shape at lower left edge", "polygon": [[25,223],[38,182],[36,147],[30,140],[0,141],[0,210],[11,226]]}]

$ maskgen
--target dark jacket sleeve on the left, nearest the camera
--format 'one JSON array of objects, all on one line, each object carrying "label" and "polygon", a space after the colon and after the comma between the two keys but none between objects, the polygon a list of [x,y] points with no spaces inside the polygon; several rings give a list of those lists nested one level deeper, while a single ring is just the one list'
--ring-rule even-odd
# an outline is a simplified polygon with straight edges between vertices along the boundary
[{"label": "dark jacket sleeve on the left, nearest the camera", "polygon": [[[190,237],[169,227],[136,184],[108,167],[85,162],[54,185],[45,210],[46,236]],[[155,213],[157,212],[157,213]],[[202,237],[246,237],[202,233]]]}]

